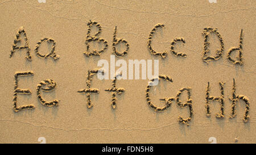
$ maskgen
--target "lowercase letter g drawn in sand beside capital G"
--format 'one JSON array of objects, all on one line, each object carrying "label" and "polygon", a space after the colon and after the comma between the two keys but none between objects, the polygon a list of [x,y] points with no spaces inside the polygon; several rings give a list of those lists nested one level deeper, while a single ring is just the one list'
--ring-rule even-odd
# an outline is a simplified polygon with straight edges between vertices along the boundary
[{"label": "lowercase letter g drawn in sand beside capital G", "polygon": [[[180,102],[180,95],[185,90],[188,93],[188,98],[187,98],[187,101],[182,104]],[[176,96],[176,102],[177,102],[177,105],[180,108],[184,108],[184,107],[188,106],[188,108],[189,108],[189,117],[187,119],[183,119],[181,116],[179,116],[178,120],[179,120],[179,123],[183,123],[183,124],[189,125],[188,123],[191,121],[191,118],[192,118],[192,115],[193,115],[193,107],[192,107],[192,99],[191,99],[191,87],[185,87],[183,89],[180,89],[180,91],[177,93],[177,96]]]}]

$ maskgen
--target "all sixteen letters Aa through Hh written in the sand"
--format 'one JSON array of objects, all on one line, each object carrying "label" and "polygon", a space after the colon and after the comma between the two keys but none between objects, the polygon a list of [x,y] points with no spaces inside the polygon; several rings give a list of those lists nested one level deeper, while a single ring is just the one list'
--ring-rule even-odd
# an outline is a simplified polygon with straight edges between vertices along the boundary
[{"label": "all sixteen letters Aa through Hh written in the sand", "polygon": [[[85,45],[86,45],[86,51],[84,52],[84,55],[86,57],[92,57],[92,56],[100,56],[101,53],[105,52],[108,49],[108,41],[106,41],[104,38],[100,37],[100,33],[102,31],[102,27],[98,22],[89,20],[88,24],[88,31],[86,34],[86,39],[85,39]],[[91,29],[92,27],[95,26],[98,30],[97,32],[93,35],[91,33]],[[147,40],[147,47],[148,47],[148,51],[150,52],[151,55],[154,55],[156,57],[162,57],[163,59],[167,57],[168,52],[172,53],[174,56],[176,57],[181,57],[181,58],[187,58],[189,57],[189,55],[187,55],[186,53],[181,53],[181,52],[176,52],[175,51],[175,46],[177,46],[177,42],[181,42],[183,45],[185,44],[185,39],[183,37],[176,37],[173,40],[170,40],[170,49],[166,50],[166,51],[155,51],[154,48],[152,47],[151,43],[153,41],[153,36],[154,33],[156,32],[156,30],[158,28],[163,28],[164,24],[162,23],[158,23],[156,24],[152,30],[150,31],[150,35],[148,36],[148,40]],[[202,52],[202,60],[203,62],[209,64],[210,61],[217,61],[222,57],[222,54],[224,52],[224,40],[222,39],[222,36],[220,34],[220,32],[217,30],[217,28],[212,28],[212,27],[205,27],[203,29],[203,37],[204,37],[204,45],[203,45],[203,52]],[[19,45],[18,43],[22,40],[21,36],[23,37],[24,40],[24,45]],[[220,48],[216,50],[216,55],[215,56],[209,56],[209,36],[210,35],[216,35],[218,37],[218,40],[220,41]],[[46,42],[48,44],[52,44],[51,46],[51,51],[49,51],[49,53],[47,53],[46,55],[42,55],[40,53],[40,45]],[[92,47],[90,47],[90,43],[95,42],[98,44],[104,44],[104,47],[100,50],[96,50],[96,49],[92,49]],[[118,44],[123,44],[125,45],[126,49],[124,51],[118,51],[117,49],[117,45]],[[232,47],[229,49],[228,51],[228,61],[230,63],[233,63],[234,65],[243,65],[243,51],[242,51],[242,46],[243,46],[243,30],[241,30],[240,33],[240,41],[239,41],[239,45],[238,47]],[[114,27],[114,32],[113,32],[113,41],[112,41],[112,53],[116,56],[116,57],[125,57],[128,53],[129,53],[129,47],[130,44],[127,40],[123,39],[123,38],[118,38],[117,37],[117,26]],[[35,45],[35,55],[40,57],[40,58],[53,58],[53,60],[58,60],[60,58],[59,55],[56,54],[55,51],[56,48],[56,41],[50,37],[44,37],[43,39],[40,39],[38,41],[38,43]],[[14,38],[14,44],[11,47],[11,52],[10,52],[10,58],[12,58],[15,54],[16,51],[26,51],[26,59],[27,60],[32,60],[32,56],[30,53],[30,45],[28,43],[28,39],[27,39],[27,33],[25,31],[24,27],[20,27],[18,32],[16,32],[15,38]],[[234,51],[238,51],[238,56],[237,58],[232,58],[231,53]],[[91,81],[92,81],[92,76],[94,74],[97,74],[98,72],[101,72],[102,74],[104,74],[104,70],[101,69],[92,69],[92,70],[88,70],[88,74],[86,77],[86,88],[85,89],[81,89],[78,90],[77,93],[82,93],[82,94],[86,94],[86,105],[88,108],[92,108],[93,103],[92,100],[90,98],[91,93],[99,93],[99,89],[97,88],[92,88],[91,87]],[[14,97],[13,97],[13,110],[15,112],[19,112],[21,110],[28,110],[28,109],[33,109],[35,108],[34,104],[27,104],[27,105],[23,105],[23,106],[18,106],[18,94],[26,94],[26,95],[31,95],[31,91],[29,89],[20,89],[18,87],[18,77],[19,76],[33,76],[34,73],[32,71],[25,71],[25,72],[16,72],[14,74],[14,78],[15,78],[15,85],[14,85]],[[122,76],[122,73],[118,73],[115,75],[115,77],[112,79],[112,87],[110,88],[106,88],[105,91],[106,93],[110,93],[112,96],[112,100],[110,102],[110,106],[115,109],[117,107],[117,94],[122,94],[125,93],[125,89],[122,87],[117,87],[117,79],[118,77]],[[163,80],[166,82],[166,85],[169,85],[168,83],[173,82],[172,78],[170,76],[161,74],[156,78],[151,79],[148,82],[148,85],[146,86],[146,102],[148,103],[148,106],[150,108],[152,108],[152,110],[156,111],[156,112],[161,112],[161,111],[165,111],[168,108],[171,107],[172,103],[176,103],[178,107],[180,108],[184,108],[184,107],[188,107],[189,110],[189,116],[188,118],[183,118],[182,116],[178,117],[178,122],[181,124],[187,124],[189,125],[189,123],[192,120],[192,116],[193,116],[193,104],[192,104],[192,88],[191,87],[183,87],[181,88],[178,92],[176,97],[168,97],[168,98],[160,98],[160,102],[164,102],[165,106],[163,107],[158,107],[155,106],[154,103],[152,103],[151,98],[150,98],[150,88],[154,85],[152,85],[152,83],[154,83],[154,81],[159,81],[159,80]],[[210,117],[210,101],[217,101],[220,102],[220,112],[218,114],[216,114],[216,118],[218,119],[222,119],[225,117],[225,112],[224,112],[224,104],[225,104],[225,100],[224,100],[224,83],[225,82],[219,82],[220,84],[220,97],[213,97],[210,95],[210,82],[208,82],[207,84],[207,90],[206,90],[206,95],[205,95],[205,111],[206,111],[206,116]],[[55,81],[53,81],[53,79],[44,79],[41,82],[38,83],[38,85],[36,86],[36,95],[38,97],[38,100],[40,101],[40,103],[42,103],[43,106],[46,107],[52,107],[52,106],[58,106],[59,105],[59,100],[57,99],[53,99],[51,101],[47,101],[45,99],[42,98],[42,95],[40,93],[40,91],[44,91],[44,92],[49,92],[49,91],[53,91],[55,90],[57,83]],[[180,100],[180,95],[183,94],[184,92],[187,92],[187,100],[184,103],[181,103]],[[230,116],[229,118],[234,118],[236,117],[237,113],[236,113],[236,103],[238,100],[243,100],[243,102],[245,102],[245,115],[243,118],[243,122],[247,123],[249,121],[249,110],[250,110],[250,102],[249,102],[249,98],[247,98],[245,95],[237,95],[236,94],[236,82],[235,79],[233,79],[233,88],[232,88],[232,98],[230,98],[230,100],[232,101],[232,105],[231,105],[231,112],[230,112]],[[121,101],[119,101],[121,102]]]}]

